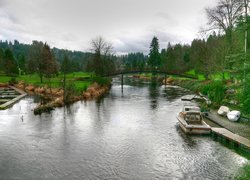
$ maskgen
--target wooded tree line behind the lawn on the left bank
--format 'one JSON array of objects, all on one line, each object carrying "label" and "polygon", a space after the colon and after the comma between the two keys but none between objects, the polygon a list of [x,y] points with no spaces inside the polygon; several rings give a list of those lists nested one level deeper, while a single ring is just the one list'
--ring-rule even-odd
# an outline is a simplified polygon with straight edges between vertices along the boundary
[{"label": "wooded tree line behind the lawn on the left bank", "polygon": [[[0,71],[7,75],[14,74],[29,74],[39,71],[39,67],[36,67],[42,60],[44,60],[42,54],[42,47],[46,43],[33,41],[31,45],[19,43],[17,40],[1,41],[0,40]],[[57,64],[57,70],[61,70],[61,65],[64,56],[69,58],[69,72],[84,71],[87,66],[87,62],[90,60],[93,53],[70,51],[65,49],[50,48],[47,49],[55,59]],[[45,47],[44,47],[45,48]]]}]

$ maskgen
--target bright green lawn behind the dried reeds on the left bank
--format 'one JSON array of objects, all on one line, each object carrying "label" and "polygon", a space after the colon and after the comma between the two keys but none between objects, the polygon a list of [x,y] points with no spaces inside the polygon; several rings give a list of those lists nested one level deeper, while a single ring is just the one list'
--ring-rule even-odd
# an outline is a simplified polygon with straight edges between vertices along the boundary
[{"label": "bright green lawn behind the dried reeds on the left bank", "polygon": [[[67,74],[67,82],[72,83],[77,91],[82,91],[85,90],[91,83],[92,83],[92,74],[91,73],[86,73],[86,72],[74,72]],[[6,83],[11,80],[12,77],[10,76],[0,76],[0,82]],[[81,79],[78,80],[77,78],[86,78],[86,79]],[[53,77],[50,79],[48,78],[43,78],[43,83],[40,82],[40,77],[37,74],[31,74],[31,75],[21,75],[15,77],[17,81],[24,81],[26,84],[32,84],[35,86],[50,86],[54,88],[59,88],[62,87],[62,79],[63,79],[63,74],[60,74],[56,77]]]}]

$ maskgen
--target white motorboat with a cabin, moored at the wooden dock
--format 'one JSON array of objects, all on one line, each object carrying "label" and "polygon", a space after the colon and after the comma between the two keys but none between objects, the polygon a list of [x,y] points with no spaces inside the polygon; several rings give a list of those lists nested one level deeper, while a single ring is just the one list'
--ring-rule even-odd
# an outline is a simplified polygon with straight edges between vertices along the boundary
[{"label": "white motorboat with a cabin, moored at the wooden dock", "polygon": [[199,107],[184,106],[177,119],[187,134],[210,134],[211,127],[203,120]]}]

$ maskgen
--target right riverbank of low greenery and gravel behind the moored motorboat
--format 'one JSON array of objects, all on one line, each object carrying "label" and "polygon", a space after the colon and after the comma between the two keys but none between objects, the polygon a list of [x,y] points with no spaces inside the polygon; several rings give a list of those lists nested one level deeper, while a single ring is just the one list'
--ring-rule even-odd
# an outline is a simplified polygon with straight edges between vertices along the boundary
[{"label": "right riverbank of low greenery and gravel behind the moored motorboat", "polygon": [[[166,81],[170,82],[168,84],[177,85],[177,86],[183,87],[185,89],[189,89],[196,94],[200,94],[200,92],[202,92],[202,94],[203,93],[212,93],[212,91],[216,91],[215,89],[218,88],[218,87],[213,87],[213,86],[210,87],[210,83],[211,83],[210,81],[199,81],[199,80],[190,80],[190,79],[188,80],[188,79],[178,79],[178,78],[176,78],[176,79],[168,78]],[[233,85],[231,83],[228,83],[228,82],[226,83],[226,87],[227,88],[223,89],[224,94],[221,95],[220,101],[215,102],[212,99],[211,105],[207,105],[205,103],[202,103],[201,106],[202,106],[202,108],[205,108],[209,111],[207,118],[210,121],[212,121],[212,122],[218,124],[219,126],[233,132],[234,134],[238,134],[238,135],[250,140],[250,124],[248,123],[248,121],[245,118],[242,118],[242,120],[240,120],[238,122],[231,122],[226,117],[222,117],[222,116],[219,116],[217,114],[217,110],[221,105],[227,105],[231,109],[237,109],[237,110],[240,109],[239,107],[237,107],[236,103],[232,103],[232,102],[237,101],[237,100],[233,99],[237,90],[233,90],[231,88],[231,87],[233,87]],[[210,92],[209,92],[208,88],[211,88]],[[213,89],[213,88],[215,88],[215,89]],[[230,89],[230,91],[229,91],[229,89]],[[214,92],[213,98],[215,98],[215,96],[216,96],[215,93],[218,93],[218,92]],[[217,96],[219,96],[219,95],[217,94]],[[227,98],[227,101],[225,101],[224,98]],[[217,100],[218,100],[218,98],[217,98]],[[230,101],[231,101],[231,103],[230,103]]]}]

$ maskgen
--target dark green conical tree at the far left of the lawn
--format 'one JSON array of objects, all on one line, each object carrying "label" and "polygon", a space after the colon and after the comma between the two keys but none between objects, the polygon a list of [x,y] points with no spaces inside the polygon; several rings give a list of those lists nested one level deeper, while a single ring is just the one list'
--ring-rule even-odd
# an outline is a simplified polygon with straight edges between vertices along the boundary
[{"label": "dark green conical tree at the far left of the lawn", "polygon": [[6,74],[18,74],[18,67],[14,55],[10,49],[6,49],[4,52],[4,71]]}]

